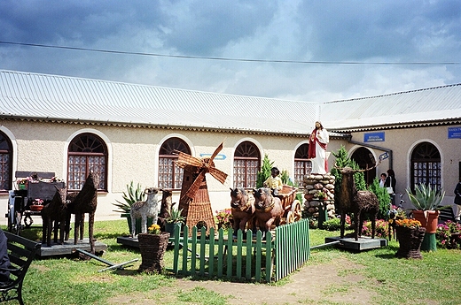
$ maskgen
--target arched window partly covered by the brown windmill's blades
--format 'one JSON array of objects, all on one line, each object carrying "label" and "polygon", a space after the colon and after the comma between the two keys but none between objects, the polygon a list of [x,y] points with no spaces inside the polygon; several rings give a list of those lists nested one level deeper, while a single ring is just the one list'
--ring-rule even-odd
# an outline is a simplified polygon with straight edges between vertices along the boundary
[{"label": "arched window partly covered by the brown windmill's blades", "polygon": [[170,138],[163,142],[159,152],[159,187],[169,189],[181,189],[183,184],[184,170],[177,166],[177,155],[174,150],[191,154],[189,146],[179,138]]}]

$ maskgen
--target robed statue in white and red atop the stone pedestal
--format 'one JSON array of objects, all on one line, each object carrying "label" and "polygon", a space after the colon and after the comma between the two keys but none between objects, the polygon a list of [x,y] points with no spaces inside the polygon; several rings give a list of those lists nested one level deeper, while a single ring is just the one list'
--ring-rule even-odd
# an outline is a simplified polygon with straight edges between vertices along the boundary
[{"label": "robed statue in white and red atop the stone pedestal", "polygon": [[328,172],[326,160],[326,145],[330,141],[328,132],[322,123],[316,121],[316,128],[309,136],[308,157],[312,161],[312,173],[325,174]]}]

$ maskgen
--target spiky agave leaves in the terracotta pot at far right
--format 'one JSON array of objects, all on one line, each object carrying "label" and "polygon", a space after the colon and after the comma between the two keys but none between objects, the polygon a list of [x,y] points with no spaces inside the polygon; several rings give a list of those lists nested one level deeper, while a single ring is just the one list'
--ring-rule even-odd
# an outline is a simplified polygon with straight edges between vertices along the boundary
[{"label": "spiky agave leaves in the terracotta pot at far right", "polygon": [[437,190],[431,185],[426,186],[424,183],[420,183],[415,185],[415,194],[411,193],[410,187],[407,187],[406,191],[416,210],[441,210],[444,208],[439,207],[445,196],[443,189]]}]

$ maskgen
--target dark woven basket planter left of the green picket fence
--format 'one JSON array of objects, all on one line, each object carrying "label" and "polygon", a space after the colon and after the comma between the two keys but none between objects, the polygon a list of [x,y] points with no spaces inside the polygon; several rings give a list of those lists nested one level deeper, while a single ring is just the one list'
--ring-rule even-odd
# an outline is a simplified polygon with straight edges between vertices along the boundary
[{"label": "dark woven basket planter left of the green picket fence", "polygon": [[142,263],[139,271],[161,273],[165,263],[163,256],[168,247],[169,233],[140,233],[137,235]]}]

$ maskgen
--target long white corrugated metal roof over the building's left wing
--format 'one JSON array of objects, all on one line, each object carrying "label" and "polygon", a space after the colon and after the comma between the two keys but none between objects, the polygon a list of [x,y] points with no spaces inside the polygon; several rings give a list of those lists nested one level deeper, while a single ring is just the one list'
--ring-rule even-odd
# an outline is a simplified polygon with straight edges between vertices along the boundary
[{"label": "long white corrugated metal roof over the building's left wing", "polygon": [[307,134],[317,103],[0,71],[2,116]]}]

